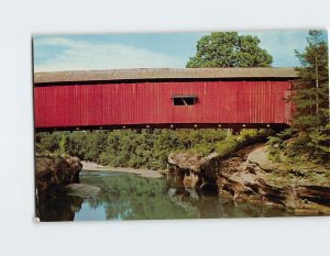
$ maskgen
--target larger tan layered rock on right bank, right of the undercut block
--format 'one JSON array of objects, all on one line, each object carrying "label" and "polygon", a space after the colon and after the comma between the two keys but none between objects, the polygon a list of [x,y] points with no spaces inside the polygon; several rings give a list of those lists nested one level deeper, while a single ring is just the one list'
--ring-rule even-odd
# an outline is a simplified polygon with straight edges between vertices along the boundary
[{"label": "larger tan layered rock on right bank, right of the undercut block", "polygon": [[[252,151],[246,160],[231,165],[223,162],[219,171],[220,193],[228,191],[234,199],[261,201],[278,208],[285,208],[296,214],[330,213],[330,170],[283,170],[270,162],[264,146]],[[228,171],[231,165],[235,171]],[[320,176],[320,172],[323,176]],[[323,177],[311,180],[310,177]]]}]

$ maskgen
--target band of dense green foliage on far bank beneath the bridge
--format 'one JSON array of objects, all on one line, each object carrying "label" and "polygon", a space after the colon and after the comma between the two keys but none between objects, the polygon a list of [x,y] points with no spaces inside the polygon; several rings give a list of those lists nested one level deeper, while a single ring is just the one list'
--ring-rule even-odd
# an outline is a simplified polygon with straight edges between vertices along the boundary
[{"label": "band of dense green foliage on far bank beneath the bridge", "polygon": [[218,152],[226,156],[242,146],[265,141],[266,130],[243,130],[231,135],[226,130],[117,130],[96,132],[54,132],[37,134],[37,148],[65,152],[84,160],[114,167],[164,169],[176,151],[200,156]]}]

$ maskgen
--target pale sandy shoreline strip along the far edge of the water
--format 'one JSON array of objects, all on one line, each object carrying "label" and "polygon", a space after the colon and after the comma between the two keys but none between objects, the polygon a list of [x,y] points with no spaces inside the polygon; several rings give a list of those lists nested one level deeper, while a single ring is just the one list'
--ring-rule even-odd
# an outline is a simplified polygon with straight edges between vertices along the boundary
[{"label": "pale sandy shoreline strip along the far edge of the water", "polygon": [[163,177],[162,174],[165,171],[161,170],[151,170],[151,169],[134,169],[130,167],[111,167],[111,166],[101,166],[92,162],[85,162],[81,160],[82,164],[82,170],[102,170],[102,171],[120,171],[120,172],[128,172],[128,174],[135,174],[140,175],[141,177],[146,177],[146,178],[161,178]]}]

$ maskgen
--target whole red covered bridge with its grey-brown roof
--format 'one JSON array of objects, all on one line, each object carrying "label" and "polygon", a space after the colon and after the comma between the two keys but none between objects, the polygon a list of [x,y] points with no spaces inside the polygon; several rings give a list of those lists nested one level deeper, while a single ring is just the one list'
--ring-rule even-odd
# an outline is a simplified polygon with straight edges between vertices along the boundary
[{"label": "whole red covered bridge with its grey-brown roof", "polygon": [[284,127],[293,68],[36,73],[36,131]]}]

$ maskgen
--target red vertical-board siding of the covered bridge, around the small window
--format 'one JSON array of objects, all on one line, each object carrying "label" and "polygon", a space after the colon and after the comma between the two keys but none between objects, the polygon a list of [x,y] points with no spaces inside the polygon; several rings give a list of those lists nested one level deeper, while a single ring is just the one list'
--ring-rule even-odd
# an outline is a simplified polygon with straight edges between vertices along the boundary
[{"label": "red vertical-board siding of the covered bridge, around the small window", "polygon": [[[290,81],[168,81],[34,88],[35,127],[178,123],[283,123]],[[175,107],[173,94],[197,94]]]}]

